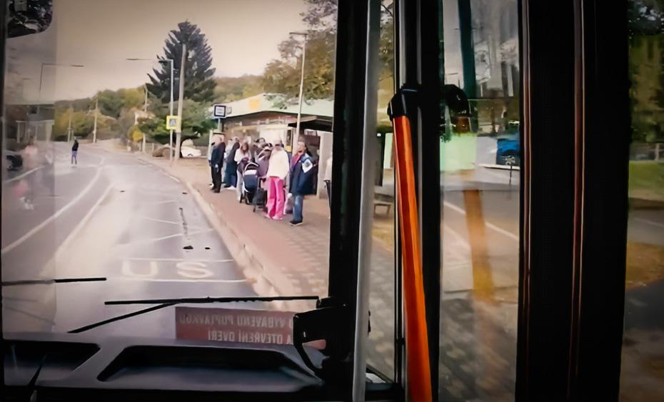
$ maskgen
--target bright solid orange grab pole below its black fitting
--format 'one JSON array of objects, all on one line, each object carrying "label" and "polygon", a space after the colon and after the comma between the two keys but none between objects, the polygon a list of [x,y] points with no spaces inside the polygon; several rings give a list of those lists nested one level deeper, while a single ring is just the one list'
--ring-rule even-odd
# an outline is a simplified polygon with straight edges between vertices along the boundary
[{"label": "bright solid orange grab pole below its black fitting", "polygon": [[398,191],[398,214],[403,257],[403,310],[406,316],[407,392],[412,402],[431,402],[431,367],[429,363],[422,256],[418,206],[415,194],[415,169],[411,123],[406,116],[395,116],[394,151]]}]

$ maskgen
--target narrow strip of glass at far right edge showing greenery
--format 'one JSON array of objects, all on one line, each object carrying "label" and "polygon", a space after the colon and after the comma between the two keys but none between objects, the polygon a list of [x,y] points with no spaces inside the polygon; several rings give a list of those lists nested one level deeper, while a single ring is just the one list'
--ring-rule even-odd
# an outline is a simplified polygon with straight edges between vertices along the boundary
[{"label": "narrow strip of glass at far right edge showing greenery", "polygon": [[664,10],[630,1],[632,144],[620,401],[664,395]]}]

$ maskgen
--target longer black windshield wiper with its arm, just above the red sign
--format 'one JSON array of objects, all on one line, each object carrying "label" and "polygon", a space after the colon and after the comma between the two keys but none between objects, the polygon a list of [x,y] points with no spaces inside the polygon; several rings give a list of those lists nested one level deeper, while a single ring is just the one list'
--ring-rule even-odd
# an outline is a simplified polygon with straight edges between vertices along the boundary
[{"label": "longer black windshield wiper with its arm, just above the red sign", "polygon": [[133,313],[127,313],[121,316],[109,318],[104,321],[91,323],[86,326],[81,326],[81,328],[72,329],[71,331],[69,331],[69,333],[81,333],[84,331],[89,331],[92,328],[97,328],[98,326],[103,326],[108,323],[114,323],[115,321],[121,321],[124,320],[125,318],[140,316],[141,314],[150,313],[151,311],[160,310],[161,308],[175,306],[176,304],[233,303],[233,302],[244,302],[244,301],[293,301],[293,300],[318,301],[318,296],[266,296],[266,297],[263,296],[209,297],[208,296],[208,297],[190,297],[190,298],[153,298],[153,299],[144,299],[144,300],[106,301],[104,304],[106,304],[107,306],[128,305],[128,304],[156,304],[156,306],[144,308],[139,311],[134,311]]}]

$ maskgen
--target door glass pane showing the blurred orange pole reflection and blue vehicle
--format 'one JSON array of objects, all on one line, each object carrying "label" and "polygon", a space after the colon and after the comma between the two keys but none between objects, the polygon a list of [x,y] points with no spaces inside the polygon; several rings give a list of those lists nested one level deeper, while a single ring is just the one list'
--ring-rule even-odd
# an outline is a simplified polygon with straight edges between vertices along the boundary
[{"label": "door glass pane showing the blurred orange pole reflection and blue vehicle", "polygon": [[[513,401],[519,227],[515,0],[443,0],[440,395]],[[463,99],[463,98],[462,98]]]}]

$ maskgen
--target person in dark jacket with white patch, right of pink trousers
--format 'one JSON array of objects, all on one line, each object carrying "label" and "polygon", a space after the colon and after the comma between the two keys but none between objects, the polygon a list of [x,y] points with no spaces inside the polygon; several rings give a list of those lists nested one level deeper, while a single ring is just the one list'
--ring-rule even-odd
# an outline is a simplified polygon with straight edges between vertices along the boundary
[{"label": "person in dark jacket with white patch, right of pink trousers", "polygon": [[293,220],[291,226],[302,224],[302,210],[304,196],[313,192],[313,159],[309,154],[304,141],[298,141],[297,153],[291,161],[291,186],[289,192],[293,194]]}]

